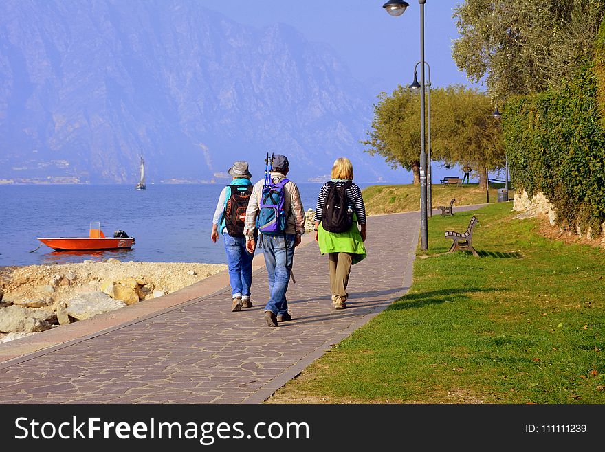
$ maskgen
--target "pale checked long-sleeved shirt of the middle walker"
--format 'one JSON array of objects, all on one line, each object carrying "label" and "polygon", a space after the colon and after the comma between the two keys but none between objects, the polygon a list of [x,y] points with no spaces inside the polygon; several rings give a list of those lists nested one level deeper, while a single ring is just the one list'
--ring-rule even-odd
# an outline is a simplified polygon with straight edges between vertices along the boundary
[{"label": "pale checked long-sleeved shirt of the middle walker", "polygon": [[[274,182],[281,181],[285,175],[281,172],[272,172],[272,180]],[[256,216],[261,210],[261,199],[263,198],[263,186],[265,185],[265,179],[254,184],[252,188],[252,194],[250,195],[250,202],[248,203],[248,209],[246,210],[246,220],[244,225],[243,233],[249,239],[254,236],[254,229],[256,229]],[[300,192],[296,183],[289,181],[284,185],[284,210],[289,212],[286,221],[286,234],[296,234],[302,236],[305,234],[305,210],[303,209],[303,201],[300,200]]]}]

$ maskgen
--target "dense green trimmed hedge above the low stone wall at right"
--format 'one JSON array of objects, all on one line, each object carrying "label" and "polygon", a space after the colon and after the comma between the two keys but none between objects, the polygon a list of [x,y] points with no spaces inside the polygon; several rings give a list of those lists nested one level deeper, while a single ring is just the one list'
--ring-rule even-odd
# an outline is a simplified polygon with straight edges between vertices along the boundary
[{"label": "dense green trimmed hedge above the low stone wall at right", "polygon": [[[603,51],[605,25],[601,30]],[[502,122],[514,187],[529,196],[542,192],[560,226],[590,227],[593,236],[605,221],[605,109],[597,100],[605,66],[599,62],[605,58],[595,58],[561,91],[511,98]]]}]

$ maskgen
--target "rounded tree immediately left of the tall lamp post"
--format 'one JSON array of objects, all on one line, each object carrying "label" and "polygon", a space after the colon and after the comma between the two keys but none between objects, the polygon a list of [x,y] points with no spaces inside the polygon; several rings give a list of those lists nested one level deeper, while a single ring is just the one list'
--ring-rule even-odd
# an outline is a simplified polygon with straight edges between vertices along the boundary
[{"label": "rounded tree immediately left of the tall lamp post", "polygon": [[380,93],[374,105],[372,130],[362,144],[370,155],[381,155],[392,168],[412,171],[420,183],[420,100],[409,88],[397,87],[392,95]]}]

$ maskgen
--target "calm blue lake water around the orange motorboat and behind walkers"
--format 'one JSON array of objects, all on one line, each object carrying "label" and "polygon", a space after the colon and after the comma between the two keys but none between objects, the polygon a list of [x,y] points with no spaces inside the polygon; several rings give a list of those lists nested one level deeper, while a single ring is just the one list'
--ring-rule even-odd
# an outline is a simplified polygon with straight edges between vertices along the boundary
[{"label": "calm blue lake water around the orange motorboat and behind walkers", "polygon": [[[367,184],[360,184],[362,187]],[[321,184],[298,184],[305,211],[315,208]],[[0,266],[122,261],[224,264],[222,240],[210,240],[223,185],[0,185]],[[58,252],[38,237],[87,237],[91,221],[105,236],[122,229],[131,249]]]}]

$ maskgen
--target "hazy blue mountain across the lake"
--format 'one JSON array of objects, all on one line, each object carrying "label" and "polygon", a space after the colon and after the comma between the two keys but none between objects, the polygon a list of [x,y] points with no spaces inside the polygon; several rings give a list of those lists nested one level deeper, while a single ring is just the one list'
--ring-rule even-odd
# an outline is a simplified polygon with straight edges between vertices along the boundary
[{"label": "hazy blue mountain across the lake", "polygon": [[371,94],[328,46],[195,0],[0,2],[0,179],[212,181],[267,152],[293,179],[347,156],[355,180],[401,179],[359,143]]}]

